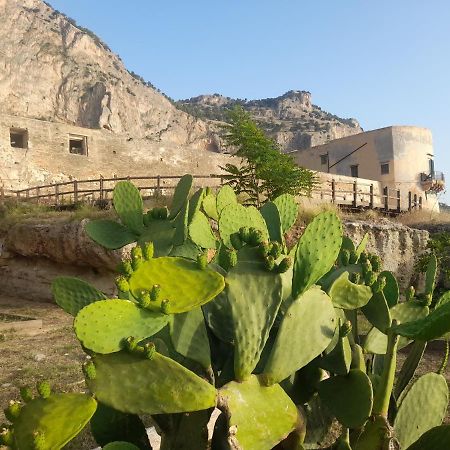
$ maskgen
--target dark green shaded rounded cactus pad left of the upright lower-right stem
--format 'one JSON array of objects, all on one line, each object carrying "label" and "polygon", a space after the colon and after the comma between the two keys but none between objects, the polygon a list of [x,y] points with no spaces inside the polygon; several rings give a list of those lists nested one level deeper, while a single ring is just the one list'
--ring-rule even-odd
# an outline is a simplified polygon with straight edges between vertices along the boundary
[{"label": "dark green shaded rounded cactus pad left of the upright lower-right stem", "polygon": [[325,406],[345,427],[363,426],[372,412],[372,384],[359,369],[321,381],[318,390]]}]

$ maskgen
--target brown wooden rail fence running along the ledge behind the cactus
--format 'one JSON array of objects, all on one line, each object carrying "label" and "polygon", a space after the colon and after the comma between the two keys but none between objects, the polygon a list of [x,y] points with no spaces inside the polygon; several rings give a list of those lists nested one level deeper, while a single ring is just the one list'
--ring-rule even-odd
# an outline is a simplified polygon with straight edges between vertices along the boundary
[{"label": "brown wooden rail fence running along the ledge behind the cactus", "polygon": [[[73,180],[63,183],[34,186],[27,189],[4,191],[0,188],[0,198],[15,197],[25,201],[36,201],[58,206],[77,202],[109,200],[118,181],[131,181],[141,191],[142,196],[155,197],[170,195],[180,179],[172,176],[137,176]],[[218,187],[223,184],[221,175],[195,175],[195,187]],[[389,213],[422,209],[422,197],[411,192],[401,192],[385,186],[379,192],[378,185],[355,181],[324,181],[313,189],[312,197],[352,209],[378,209]]]}]

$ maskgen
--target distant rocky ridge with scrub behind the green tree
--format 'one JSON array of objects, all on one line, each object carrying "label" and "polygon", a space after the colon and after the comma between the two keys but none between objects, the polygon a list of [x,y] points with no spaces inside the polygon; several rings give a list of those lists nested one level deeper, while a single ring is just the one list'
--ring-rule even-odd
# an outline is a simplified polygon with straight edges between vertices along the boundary
[{"label": "distant rocky ridge with scrub behind the green tree", "polygon": [[285,152],[363,131],[357,120],[339,118],[313,105],[311,93],[306,91],[289,91],[280,97],[263,100],[201,95],[180,100],[178,104],[186,112],[208,121],[213,128],[227,121],[227,112],[231,108],[242,106]]}]

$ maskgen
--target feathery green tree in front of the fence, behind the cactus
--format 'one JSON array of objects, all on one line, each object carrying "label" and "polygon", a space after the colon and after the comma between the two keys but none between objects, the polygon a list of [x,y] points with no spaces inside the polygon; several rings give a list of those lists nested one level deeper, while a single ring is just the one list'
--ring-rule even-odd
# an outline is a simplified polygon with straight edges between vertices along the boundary
[{"label": "feathery green tree in front of the fence, behind the cactus", "polygon": [[239,165],[226,164],[225,179],[237,193],[244,193],[246,203],[260,206],[281,194],[310,195],[317,183],[314,172],[299,167],[290,155],[267,137],[242,107],[230,111],[223,126],[225,145],[241,158]]}]

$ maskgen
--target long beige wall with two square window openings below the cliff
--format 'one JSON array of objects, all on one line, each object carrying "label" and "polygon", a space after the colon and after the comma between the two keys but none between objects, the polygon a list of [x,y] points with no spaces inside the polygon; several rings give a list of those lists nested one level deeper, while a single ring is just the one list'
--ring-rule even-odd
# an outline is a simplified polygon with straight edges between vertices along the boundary
[{"label": "long beige wall with two square window openings below the cliff", "polygon": [[[11,145],[12,134],[25,133],[26,145]],[[230,156],[197,146],[163,146],[107,130],[0,115],[0,186],[24,189],[40,184],[128,175],[218,173]]]}]

